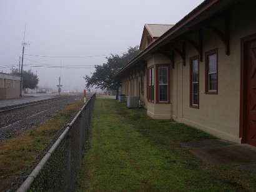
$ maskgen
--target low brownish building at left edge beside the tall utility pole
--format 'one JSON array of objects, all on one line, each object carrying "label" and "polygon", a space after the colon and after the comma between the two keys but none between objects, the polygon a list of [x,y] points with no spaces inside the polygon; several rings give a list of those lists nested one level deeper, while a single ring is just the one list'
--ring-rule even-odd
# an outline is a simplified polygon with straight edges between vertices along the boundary
[{"label": "low brownish building at left edge beside the tall utility pole", "polygon": [[21,77],[0,73],[0,99],[18,98],[20,86]]}]

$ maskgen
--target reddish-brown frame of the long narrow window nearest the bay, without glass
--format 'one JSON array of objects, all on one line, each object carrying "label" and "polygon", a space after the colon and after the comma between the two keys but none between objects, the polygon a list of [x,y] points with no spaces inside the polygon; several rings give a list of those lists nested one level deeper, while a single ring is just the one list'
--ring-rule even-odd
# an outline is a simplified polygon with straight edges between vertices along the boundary
[{"label": "reddish-brown frame of the long narrow window nearest the bay, without glass", "polygon": [[[197,77],[197,104],[193,103],[193,61],[194,60],[198,60],[198,77]],[[190,57],[190,103],[189,106],[192,108],[199,108],[199,64],[200,64],[200,60],[199,60],[199,55],[195,55],[194,57]]]}]

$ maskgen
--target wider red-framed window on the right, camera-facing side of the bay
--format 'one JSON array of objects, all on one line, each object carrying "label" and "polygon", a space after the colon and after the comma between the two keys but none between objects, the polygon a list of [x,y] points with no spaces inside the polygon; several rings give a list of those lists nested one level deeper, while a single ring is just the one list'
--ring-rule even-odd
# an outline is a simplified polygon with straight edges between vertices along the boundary
[{"label": "wider red-framed window on the right, camera-facing side of the bay", "polygon": [[157,103],[170,103],[170,67],[157,65]]}]

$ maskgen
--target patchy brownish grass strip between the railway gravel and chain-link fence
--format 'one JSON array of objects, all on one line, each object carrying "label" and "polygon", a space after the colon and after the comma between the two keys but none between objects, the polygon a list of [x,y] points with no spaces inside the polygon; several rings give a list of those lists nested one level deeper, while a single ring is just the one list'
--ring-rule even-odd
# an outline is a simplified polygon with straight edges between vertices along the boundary
[{"label": "patchy brownish grass strip between the railway gravel and chain-link fence", "polygon": [[27,130],[19,137],[0,142],[0,191],[11,187],[10,183],[14,182],[13,176],[31,165],[39,151],[45,148],[51,138],[81,108],[82,104],[81,100],[77,100],[59,112],[52,120],[33,130]]}]

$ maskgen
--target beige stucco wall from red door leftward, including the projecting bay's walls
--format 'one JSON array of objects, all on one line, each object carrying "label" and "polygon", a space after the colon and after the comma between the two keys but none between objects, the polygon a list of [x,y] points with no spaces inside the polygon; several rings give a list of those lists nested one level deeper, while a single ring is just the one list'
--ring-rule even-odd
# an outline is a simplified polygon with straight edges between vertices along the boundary
[{"label": "beige stucco wall from red door leftward, including the projecting bay's walls", "polygon": [[[171,68],[170,75],[170,104],[147,102],[147,75],[144,76],[143,98],[150,117],[174,118],[178,122],[199,128],[224,140],[241,142],[239,138],[240,39],[256,33],[254,7],[254,1],[241,1],[230,8],[230,55],[225,54],[224,43],[215,32],[203,29],[203,60],[199,63],[199,108],[189,106],[190,57],[199,54],[189,43],[185,44],[185,66],[182,65],[179,54],[175,53],[175,65],[174,69]],[[224,18],[212,24],[224,27]],[[195,34],[189,38],[198,42]],[[218,49],[218,94],[205,94],[205,52],[213,49]],[[145,60],[147,67],[170,64],[170,60],[160,54],[150,55]]]}]

